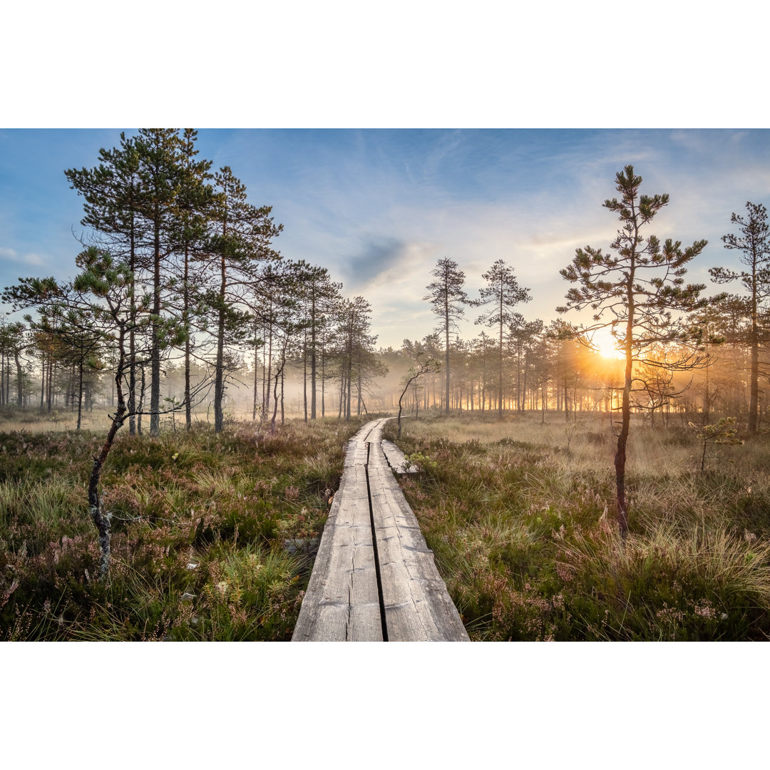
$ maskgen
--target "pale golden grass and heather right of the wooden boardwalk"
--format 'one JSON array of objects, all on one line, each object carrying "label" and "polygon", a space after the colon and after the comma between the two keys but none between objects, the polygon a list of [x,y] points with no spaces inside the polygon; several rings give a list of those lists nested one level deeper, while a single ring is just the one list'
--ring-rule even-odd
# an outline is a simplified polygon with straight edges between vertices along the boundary
[{"label": "pale golden grass and heather right of the wooden boardwalk", "polygon": [[471,638],[767,639],[768,438],[721,448],[701,474],[694,431],[634,425],[623,543],[608,428],[404,423],[398,443],[430,462],[401,483]]}]

